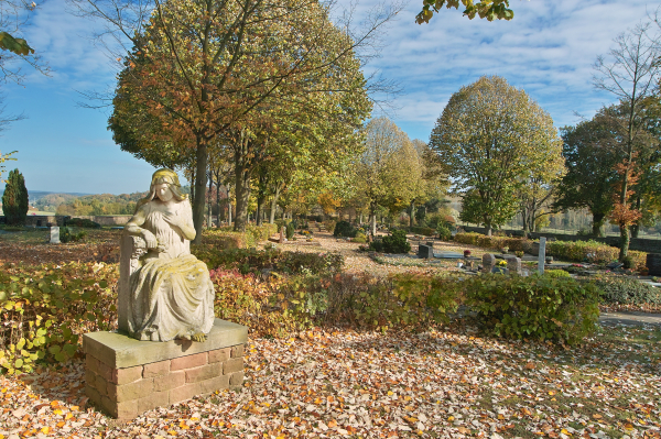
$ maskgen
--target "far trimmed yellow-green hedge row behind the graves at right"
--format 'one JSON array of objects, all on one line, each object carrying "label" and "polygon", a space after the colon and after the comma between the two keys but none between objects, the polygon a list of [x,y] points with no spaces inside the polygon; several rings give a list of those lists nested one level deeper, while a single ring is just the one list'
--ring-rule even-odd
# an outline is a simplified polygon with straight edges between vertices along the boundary
[{"label": "far trimmed yellow-green hedge row behind the graves at right", "polygon": [[[533,241],[525,238],[487,237],[480,233],[457,233],[455,242],[481,246],[483,249],[500,250],[503,246],[510,251],[523,251],[530,253]],[[589,261],[598,264],[616,261],[619,249],[596,241],[546,241],[546,254],[563,261],[583,262]],[[629,251],[633,270],[642,270],[646,266],[646,252]]]}]

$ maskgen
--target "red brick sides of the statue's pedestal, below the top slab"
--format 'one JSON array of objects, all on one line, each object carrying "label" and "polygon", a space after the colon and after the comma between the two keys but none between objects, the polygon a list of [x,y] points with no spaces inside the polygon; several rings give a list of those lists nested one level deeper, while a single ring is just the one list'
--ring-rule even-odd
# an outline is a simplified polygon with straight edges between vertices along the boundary
[{"label": "red brick sides of the statue's pedestal, below the top slab", "polygon": [[243,383],[243,344],[126,369],[87,354],[85,393],[119,419]]}]

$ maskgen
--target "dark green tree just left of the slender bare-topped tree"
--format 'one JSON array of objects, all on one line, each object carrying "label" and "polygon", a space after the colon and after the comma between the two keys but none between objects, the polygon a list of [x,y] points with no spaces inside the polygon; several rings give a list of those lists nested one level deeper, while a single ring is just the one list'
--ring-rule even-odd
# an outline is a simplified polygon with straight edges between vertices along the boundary
[{"label": "dark green tree just left of the slender bare-topped tree", "polygon": [[593,216],[595,237],[613,210],[613,187],[618,180],[615,166],[621,162],[620,124],[613,108],[603,108],[589,121],[561,130],[566,174],[557,185],[555,210],[587,208]]}]

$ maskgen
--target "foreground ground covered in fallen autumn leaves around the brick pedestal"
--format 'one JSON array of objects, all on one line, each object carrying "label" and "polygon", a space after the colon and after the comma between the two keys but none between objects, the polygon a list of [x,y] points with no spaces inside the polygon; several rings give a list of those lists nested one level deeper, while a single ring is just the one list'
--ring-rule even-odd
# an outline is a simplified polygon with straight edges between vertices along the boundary
[{"label": "foreground ground covered in fallen autumn leaves around the brick pedestal", "polygon": [[84,397],[80,361],[0,377],[0,435],[659,438],[661,331],[603,328],[585,345],[308,331],[249,340],[246,383],[118,424]]}]

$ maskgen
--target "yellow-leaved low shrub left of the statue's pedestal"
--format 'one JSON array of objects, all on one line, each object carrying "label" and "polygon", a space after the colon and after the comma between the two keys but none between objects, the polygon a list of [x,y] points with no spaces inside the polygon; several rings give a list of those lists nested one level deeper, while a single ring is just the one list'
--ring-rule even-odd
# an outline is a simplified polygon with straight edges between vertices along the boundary
[{"label": "yellow-leaved low shrub left of the statue's pedestal", "polygon": [[116,264],[68,263],[0,271],[0,369],[31,372],[79,352],[79,336],[117,325]]}]

